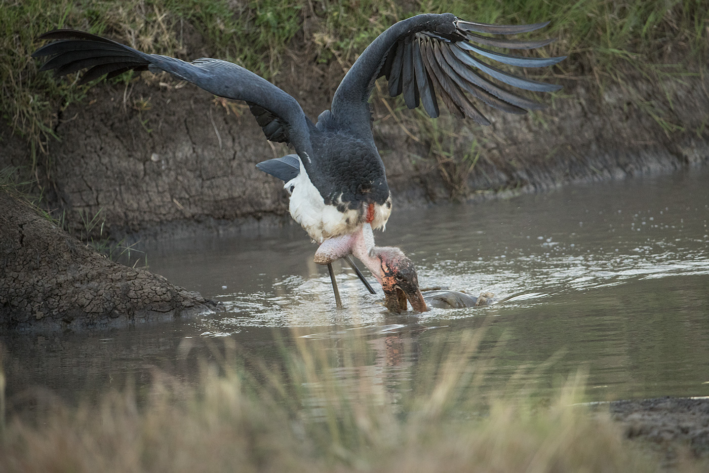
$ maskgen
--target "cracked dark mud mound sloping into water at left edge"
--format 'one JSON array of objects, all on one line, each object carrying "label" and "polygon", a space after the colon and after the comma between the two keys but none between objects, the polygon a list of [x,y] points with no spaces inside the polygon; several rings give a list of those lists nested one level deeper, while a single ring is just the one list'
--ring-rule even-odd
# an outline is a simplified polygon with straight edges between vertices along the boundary
[{"label": "cracked dark mud mound sloping into water at left edge", "polygon": [[0,189],[0,333],[128,327],[216,308],[199,293],[118,265]]}]

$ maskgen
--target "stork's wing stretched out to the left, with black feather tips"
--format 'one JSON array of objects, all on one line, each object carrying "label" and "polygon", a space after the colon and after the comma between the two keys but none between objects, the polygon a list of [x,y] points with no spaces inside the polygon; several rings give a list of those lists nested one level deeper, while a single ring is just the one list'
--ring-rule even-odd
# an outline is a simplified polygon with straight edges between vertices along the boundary
[{"label": "stork's wing stretched out to the left, with black feather tips", "polygon": [[33,53],[33,57],[52,56],[40,70],[54,69],[57,76],[62,76],[89,69],[82,76],[82,83],[105,74],[116,77],[130,69],[169,72],[212,94],[247,102],[266,138],[291,143],[298,152],[311,152],[311,123],[296,99],[243,67],[208,57],[185,62],[147,54],[77,30],[53,30],[40,39],[58,40]]}]

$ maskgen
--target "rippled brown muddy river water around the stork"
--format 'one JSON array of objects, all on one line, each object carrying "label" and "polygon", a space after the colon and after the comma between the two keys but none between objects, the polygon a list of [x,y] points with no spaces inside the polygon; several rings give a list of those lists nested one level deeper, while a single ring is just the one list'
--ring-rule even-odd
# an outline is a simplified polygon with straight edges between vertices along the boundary
[{"label": "rippled brown muddy river water around the stork", "polygon": [[245,357],[277,360],[274,340],[294,328],[323,349],[345,335],[363,340],[369,356],[360,375],[396,386],[429,362],[422,354],[432,340],[482,325],[493,379],[544,365],[534,376],[550,386],[583,366],[593,399],[706,396],[708,182],[700,171],[397,210],[377,243],[403,247],[422,286],[492,291],[500,301],[418,317],[384,313],[381,289],[370,296],[345,267],[336,269],[346,308],[335,309],[327,272],[312,263],[316,247],[296,226],[166,238],[148,245],[150,269],[222,301],[225,311],[88,335],[5,338],[9,398],[40,386],[72,399],[121,387],[126,377],[140,384],[155,367],[196,382],[196,360],[213,356],[221,338]]}]

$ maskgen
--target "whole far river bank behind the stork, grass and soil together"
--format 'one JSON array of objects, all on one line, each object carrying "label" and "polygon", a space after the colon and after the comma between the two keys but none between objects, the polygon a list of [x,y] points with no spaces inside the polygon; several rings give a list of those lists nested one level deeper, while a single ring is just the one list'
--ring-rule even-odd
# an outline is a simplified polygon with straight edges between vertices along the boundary
[{"label": "whole far river bank behind the stork, grass and soil together", "polygon": [[[167,75],[144,73],[88,89],[56,82],[50,74],[37,72],[37,64],[28,57],[38,46],[32,34],[52,28],[62,9],[52,7],[38,16],[33,5],[13,6],[17,10],[13,27],[26,31],[15,38],[8,67],[22,67],[23,73],[18,76],[21,80],[8,79],[7,91],[16,99],[9,106],[18,111],[14,121],[0,124],[4,143],[0,169],[16,167],[18,174],[34,179],[44,208],[62,216],[67,229],[86,233],[85,221],[96,217],[103,224],[102,236],[120,240],[193,223],[218,231],[286,215],[281,183],[259,172],[255,164],[289,150],[264,140],[244,104],[215,99]],[[337,13],[303,4],[269,13],[238,6],[240,15],[234,16],[237,6],[218,1],[215,9],[201,13],[203,17],[185,10],[185,5],[176,2],[160,16],[146,10],[140,0],[125,9],[114,8],[109,1],[101,5],[106,10],[103,26],[91,23],[82,7],[70,9],[66,21],[184,59],[239,52],[241,62],[296,97],[314,118],[328,108],[337,84],[357,57],[359,50],[353,48],[364,48],[378,30],[396,21],[395,16],[413,14],[417,8],[390,11],[374,2]],[[569,55],[542,72],[547,82],[564,86],[560,92],[537,97],[549,105],[543,111],[510,116],[486,109],[489,127],[447,113],[430,120],[420,111],[406,110],[401,97],[390,99],[379,85],[375,87],[373,128],[395,208],[542,191],[708,162],[709,87],[702,54],[706,32],[693,25],[709,18],[709,11],[694,11],[689,4],[669,10],[664,4],[638,4],[617,12],[607,11],[603,2],[588,2],[584,12],[562,4],[547,11],[545,5],[527,6],[530,11],[510,18],[519,23],[518,16],[528,21],[540,14],[549,16],[543,18],[552,21],[548,34],[558,34],[559,39],[542,54]],[[365,13],[370,21],[359,25]],[[264,28],[262,16],[273,14],[282,16],[287,32]],[[337,23],[345,14],[358,30]],[[457,14],[484,19],[510,12],[499,2],[483,2],[474,11]],[[575,14],[596,29],[580,28]],[[30,21],[23,15],[33,23],[23,23]],[[221,31],[204,29],[214,22],[234,21],[241,23]],[[653,28],[640,29],[643,21]],[[627,30],[613,38],[598,34],[598,29],[610,25]],[[266,35],[267,42],[245,43],[257,33]],[[340,42],[323,47],[323,35]],[[259,52],[261,60],[247,52]],[[37,98],[26,104],[23,115],[21,99],[27,94]],[[38,104],[42,113],[33,108]],[[38,130],[45,130],[45,140],[38,138],[42,135]]]}]

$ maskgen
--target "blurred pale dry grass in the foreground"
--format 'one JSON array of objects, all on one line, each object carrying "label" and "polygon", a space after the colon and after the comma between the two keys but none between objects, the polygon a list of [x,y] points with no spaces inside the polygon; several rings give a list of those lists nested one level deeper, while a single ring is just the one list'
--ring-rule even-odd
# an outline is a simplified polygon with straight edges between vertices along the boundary
[{"label": "blurred pale dry grass in the foreground", "polygon": [[[218,363],[203,362],[196,386],[157,374],[145,392],[127,386],[78,407],[53,399],[31,418],[10,416],[0,471],[657,471],[608,416],[571,406],[582,376],[550,402],[514,379],[481,391],[490,361],[473,360],[480,332],[433,345],[440,363],[396,400],[377,395],[384,383],[354,363],[358,350],[343,359],[296,338],[282,350],[284,369],[247,370],[227,347]],[[345,343],[363,346],[332,341]]]}]

